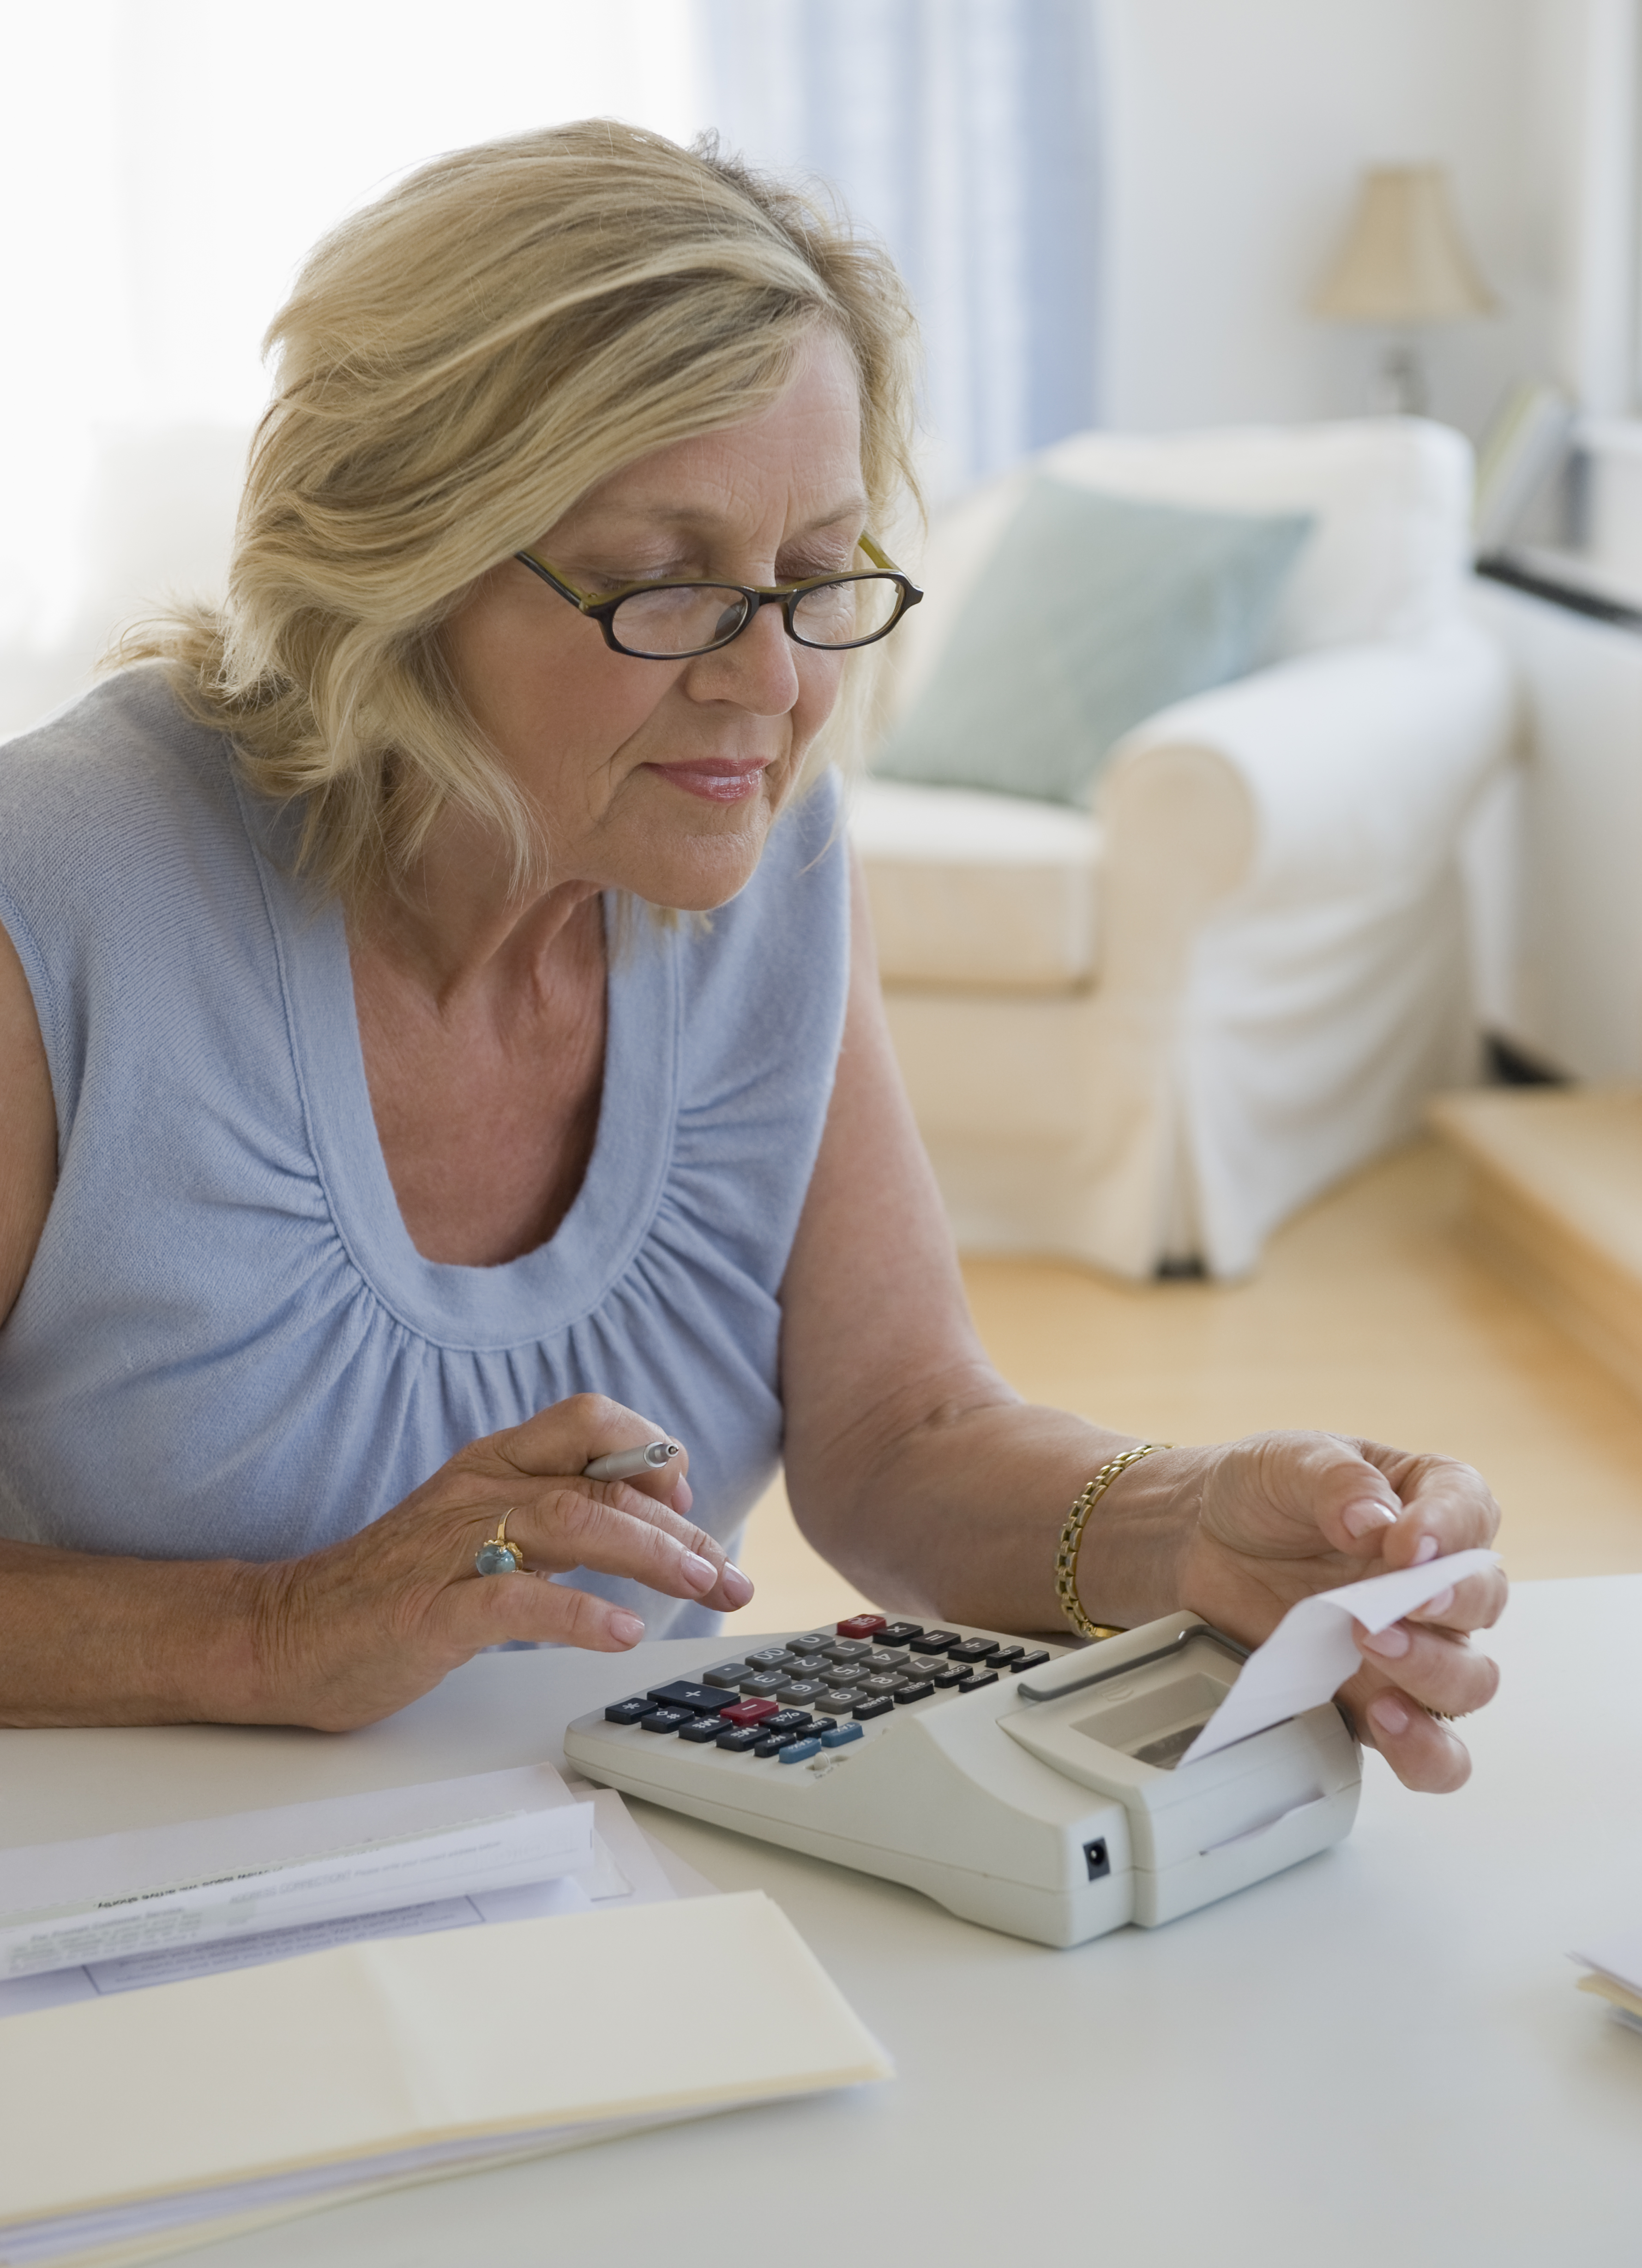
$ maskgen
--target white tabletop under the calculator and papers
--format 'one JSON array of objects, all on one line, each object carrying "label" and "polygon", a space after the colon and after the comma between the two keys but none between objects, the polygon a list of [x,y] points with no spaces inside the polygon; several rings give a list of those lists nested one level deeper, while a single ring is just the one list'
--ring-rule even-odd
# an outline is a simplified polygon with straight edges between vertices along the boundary
[{"label": "white tabletop under the calculator and papers", "polygon": [[[1073,1953],[635,1805],[769,1889],[898,2080],[474,2175],[186,2254],[197,2268],[950,2268],[1642,2261],[1642,2037],[1567,1948],[1642,1921],[1642,1576],[1526,1583],[1458,1796],[1365,1758],[1338,1851]],[[508,1653],[367,1733],[0,1733],[0,1844],[558,1758],[701,1658]],[[95,2136],[86,2136],[95,2150]]]}]

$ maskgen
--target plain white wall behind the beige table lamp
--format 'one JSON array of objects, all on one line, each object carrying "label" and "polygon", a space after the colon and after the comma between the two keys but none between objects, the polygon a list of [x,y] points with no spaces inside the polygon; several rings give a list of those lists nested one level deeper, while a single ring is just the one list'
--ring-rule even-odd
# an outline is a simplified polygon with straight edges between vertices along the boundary
[{"label": "plain white wall behind the beige table lamp", "polygon": [[[1104,415],[1173,429],[1370,406],[1379,340],[1315,322],[1370,163],[1451,168],[1501,313],[1427,333],[1479,433],[1549,374],[1567,272],[1565,50],[1585,0],[1104,0]],[[1560,104],[1560,107],[1558,107]]]}]

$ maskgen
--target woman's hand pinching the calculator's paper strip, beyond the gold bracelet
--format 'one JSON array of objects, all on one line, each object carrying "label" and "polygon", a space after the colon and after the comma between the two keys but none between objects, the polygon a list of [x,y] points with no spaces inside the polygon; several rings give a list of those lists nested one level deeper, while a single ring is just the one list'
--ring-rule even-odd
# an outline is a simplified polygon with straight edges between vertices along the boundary
[{"label": "woman's hand pinching the calculator's paper strip, beyond the gold bracelet", "polygon": [[[1470,1465],[1336,1433],[1256,1433],[1197,1452],[1197,1517],[1179,1558],[1179,1601],[1247,1644],[1315,1590],[1492,1545],[1499,1506]],[[1470,1644],[1506,1603],[1504,1569],[1467,1576],[1370,1637],[1338,1699],[1408,1787],[1470,1778],[1449,1717],[1492,1701],[1499,1672]]]}]

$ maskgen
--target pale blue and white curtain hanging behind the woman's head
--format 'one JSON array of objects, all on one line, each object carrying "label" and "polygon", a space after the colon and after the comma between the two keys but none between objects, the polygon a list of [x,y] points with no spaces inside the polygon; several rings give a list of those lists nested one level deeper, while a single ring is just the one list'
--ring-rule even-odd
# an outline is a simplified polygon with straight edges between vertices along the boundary
[{"label": "pale blue and white curtain hanging behind the woman's head", "polygon": [[1095,0],[701,0],[708,109],[880,234],[923,324],[934,494],[1095,424]]}]

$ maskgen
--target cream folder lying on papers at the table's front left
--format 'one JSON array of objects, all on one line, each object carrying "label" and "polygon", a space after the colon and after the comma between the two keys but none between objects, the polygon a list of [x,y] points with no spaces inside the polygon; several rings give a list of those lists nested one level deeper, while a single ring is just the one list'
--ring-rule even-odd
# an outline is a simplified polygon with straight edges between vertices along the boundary
[{"label": "cream folder lying on papers at the table's front left", "polygon": [[762,1892],[338,1946],[0,2025],[0,2261],[113,2268],[889,2071]]}]

